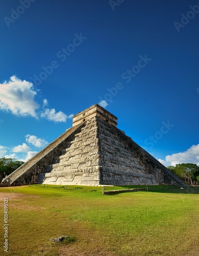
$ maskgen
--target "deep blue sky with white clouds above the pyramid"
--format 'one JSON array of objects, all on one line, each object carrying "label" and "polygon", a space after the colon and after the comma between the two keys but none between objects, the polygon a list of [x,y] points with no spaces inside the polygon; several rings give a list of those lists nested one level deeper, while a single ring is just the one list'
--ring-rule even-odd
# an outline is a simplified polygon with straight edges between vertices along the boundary
[{"label": "deep blue sky with white clouds above the pyramid", "polygon": [[28,160],[95,103],[166,166],[199,164],[199,2],[1,0],[0,155]]}]

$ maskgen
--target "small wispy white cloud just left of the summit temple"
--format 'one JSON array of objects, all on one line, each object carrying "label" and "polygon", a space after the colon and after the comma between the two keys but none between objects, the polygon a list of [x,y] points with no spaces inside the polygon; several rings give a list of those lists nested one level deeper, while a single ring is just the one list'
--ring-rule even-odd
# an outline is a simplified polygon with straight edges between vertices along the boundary
[{"label": "small wispy white cloud just left of the summit temple", "polygon": [[41,117],[54,122],[66,122],[67,118],[72,118],[73,115],[67,116],[61,111],[56,113],[55,109],[45,109]]}]

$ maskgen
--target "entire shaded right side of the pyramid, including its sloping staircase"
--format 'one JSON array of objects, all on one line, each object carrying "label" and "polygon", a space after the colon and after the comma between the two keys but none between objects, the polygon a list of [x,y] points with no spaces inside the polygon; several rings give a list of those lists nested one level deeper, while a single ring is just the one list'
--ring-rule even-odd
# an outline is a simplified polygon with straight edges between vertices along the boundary
[{"label": "entire shaded right side of the pyramid, including its sloping staircase", "polygon": [[98,132],[102,184],[187,186],[117,127],[98,118]]}]

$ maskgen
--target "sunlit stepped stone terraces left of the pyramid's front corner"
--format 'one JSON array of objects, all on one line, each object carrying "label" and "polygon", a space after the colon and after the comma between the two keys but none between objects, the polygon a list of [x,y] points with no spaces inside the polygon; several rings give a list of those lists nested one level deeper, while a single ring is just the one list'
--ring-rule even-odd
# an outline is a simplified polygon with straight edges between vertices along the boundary
[{"label": "sunlit stepped stone terraces left of the pyramid's front corner", "polygon": [[[73,140],[43,173],[43,184],[99,185],[99,154],[96,118],[85,122]],[[40,180],[41,181],[41,180]]]}]

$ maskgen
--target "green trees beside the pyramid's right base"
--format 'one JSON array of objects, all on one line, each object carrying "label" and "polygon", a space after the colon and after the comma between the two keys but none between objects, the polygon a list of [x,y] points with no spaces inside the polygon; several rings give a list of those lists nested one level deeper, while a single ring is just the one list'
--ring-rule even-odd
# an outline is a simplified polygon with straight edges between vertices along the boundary
[{"label": "green trees beside the pyramid's right base", "polygon": [[181,163],[175,166],[168,166],[175,175],[181,177],[186,183],[193,186],[198,183],[199,166],[193,163]]}]

